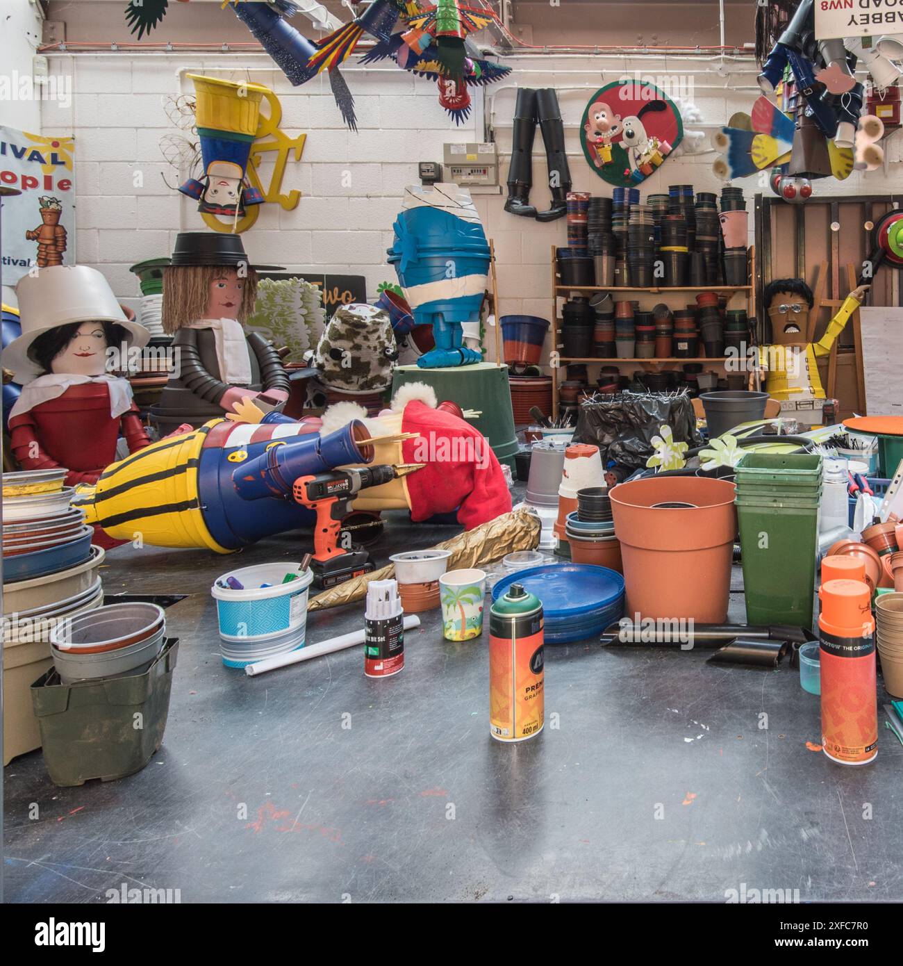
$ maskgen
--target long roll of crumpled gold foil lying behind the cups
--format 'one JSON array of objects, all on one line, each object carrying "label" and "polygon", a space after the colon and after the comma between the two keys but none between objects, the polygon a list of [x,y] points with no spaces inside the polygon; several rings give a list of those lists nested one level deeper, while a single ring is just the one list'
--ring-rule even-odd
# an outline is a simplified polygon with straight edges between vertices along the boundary
[{"label": "long roll of crumpled gold foil lying behind the cups", "polygon": [[[488,523],[476,526],[465,533],[430,550],[450,550],[449,570],[463,570],[467,567],[480,567],[500,560],[507,554],[519,550],[535,550],[539,546],[542,524],[539,517],[529,507],[522,506],[511,513],[503,513]],[[308,611],[322,611],[327,607],[352,604],[367,596],[367,584],[371,581],[387,581],[395,576],[395,567],[389,564],[364,577],[330,587],[322,594],[312,597],[307,604]]]}]

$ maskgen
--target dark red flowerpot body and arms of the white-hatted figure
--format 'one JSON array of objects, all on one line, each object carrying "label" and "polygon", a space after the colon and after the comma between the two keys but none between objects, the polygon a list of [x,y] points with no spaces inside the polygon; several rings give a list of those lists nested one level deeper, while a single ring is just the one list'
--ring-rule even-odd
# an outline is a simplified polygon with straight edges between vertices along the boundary
[{"label": "dark red flowerpot body and arms of the white-hatted figure", "polygon": [[116,459],[116,442],[126,438],[134,453],[151,440],[138,407],[110,417],[110,391],[103,383],[71,385],[51,399],[10,419],[10,445],[22,469],[69,469],[66,485],[97,483]]}]

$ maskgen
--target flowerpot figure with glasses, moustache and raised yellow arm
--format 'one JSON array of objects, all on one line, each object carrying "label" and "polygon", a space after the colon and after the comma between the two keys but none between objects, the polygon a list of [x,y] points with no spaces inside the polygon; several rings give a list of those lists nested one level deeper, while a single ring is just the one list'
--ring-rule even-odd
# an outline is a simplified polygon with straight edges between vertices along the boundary
[{"label": "flowerpot figure with glasses, moustache and raised yellow arm", "polygon": [[818,359],[831,352],[868,289],[868,285],[854,289],[821,339],[806,342],[808,313],[815,303],[812,290],[802,278],[779,278],[765,287],[763,301],[772,334],[768,344],[759,346],[758,363],[765,374],[765,390],[780,402],[781,415],[806,425],[821,423],[825,390],[818,374]]}]

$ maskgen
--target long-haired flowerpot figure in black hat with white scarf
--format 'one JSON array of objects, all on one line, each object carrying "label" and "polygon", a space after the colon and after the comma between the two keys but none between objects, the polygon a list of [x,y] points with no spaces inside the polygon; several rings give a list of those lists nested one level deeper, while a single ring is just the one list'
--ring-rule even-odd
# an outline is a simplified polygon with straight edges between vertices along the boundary
[{"label": "long-haired flowerpot figure in black hat with white scarf", "polygon": [[254,311],[257,271],[239,235],[181,232],[163,269],[163,329],[174,336],[176,367],[151,418],[165,436],[234,412],[242,399],[266,395],[277,409],[289,377],[272,344],[242,323]]}]

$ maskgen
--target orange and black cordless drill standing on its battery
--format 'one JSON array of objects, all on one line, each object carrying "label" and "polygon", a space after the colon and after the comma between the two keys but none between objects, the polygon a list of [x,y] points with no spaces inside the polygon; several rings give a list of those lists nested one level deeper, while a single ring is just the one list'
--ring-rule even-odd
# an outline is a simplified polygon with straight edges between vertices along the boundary
[{"label": "orange and black cordless drill standing on its battery", "polygon": [[365,550],[340,546],[342,521],[351,512],[352,503],[361,490],[381,486],[399,476],[407,476],[421,464],[398,467],[378,465],[361,469],[333,469],[315,476],[299,476],[292,487],[296,502],[316,511],[314,557],[311,570],[314,586],[333,587],[373,570]]}]

